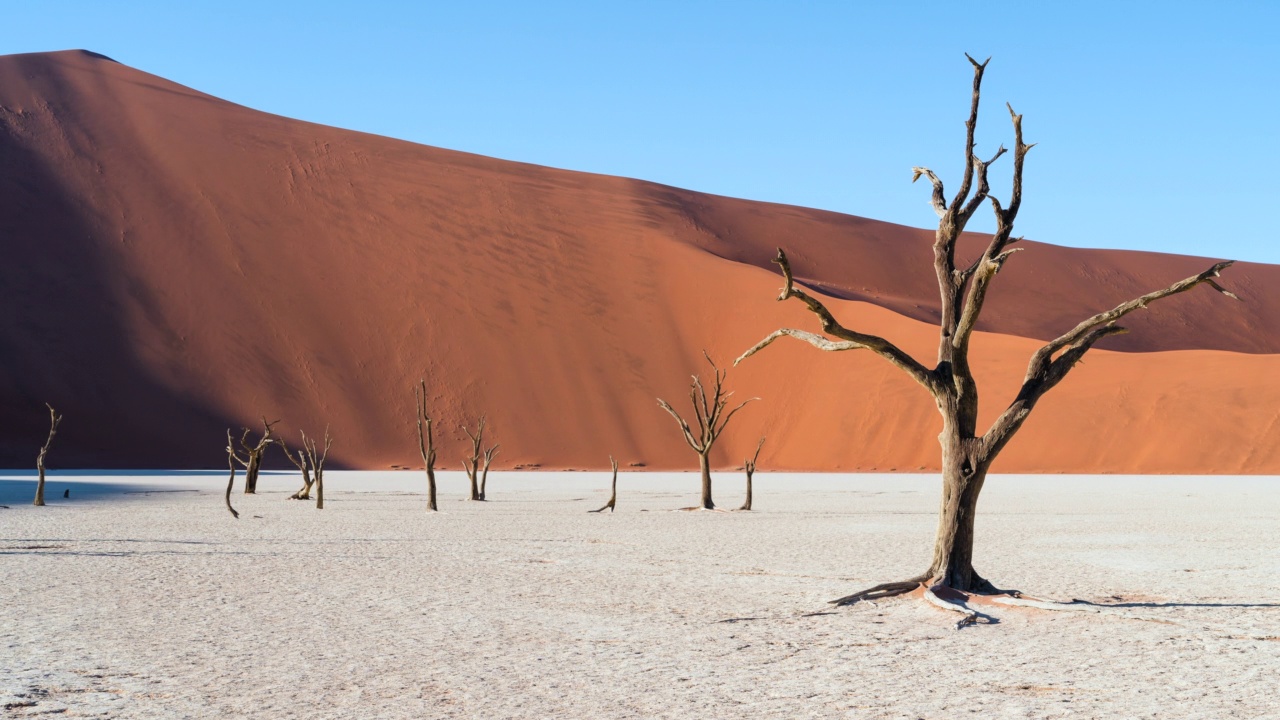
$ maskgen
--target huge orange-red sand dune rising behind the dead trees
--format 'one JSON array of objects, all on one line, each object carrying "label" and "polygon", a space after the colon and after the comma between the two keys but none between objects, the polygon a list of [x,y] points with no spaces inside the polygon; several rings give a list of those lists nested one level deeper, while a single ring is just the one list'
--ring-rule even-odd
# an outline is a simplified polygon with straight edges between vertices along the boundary
[{"label": "huge orange-red sand dune rising behind the dead trees", "polygon": [[[332,424],[346,466],[420,464],[425,377],[449,466],[484,413],[503,468],[687,468],[654,397],[682,405],[703,348],[817,329],[773,301],[777,245],[847,324],[933,355],[927,231],[291,120],[82,51],[0,58],[0,466],[45,401],[55,466],[216,468],[260,414]],[[1037,338],[1208,265],[1025,245],[975,341],[988,418]],[[1245,302],[1197,290],[1108,338],[997,470],[1280,473],[1280,266],[1226,284]],[[760,433],[762,468],[937,466],[932,401],[868,354],[780,345],[731,383],[763,400],[721,466]]]}]

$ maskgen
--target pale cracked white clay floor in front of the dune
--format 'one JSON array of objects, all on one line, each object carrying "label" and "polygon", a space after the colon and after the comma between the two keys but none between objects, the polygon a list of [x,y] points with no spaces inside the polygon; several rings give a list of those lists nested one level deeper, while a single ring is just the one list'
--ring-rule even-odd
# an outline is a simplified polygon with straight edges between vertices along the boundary
[{"label": "pale cracked white clay floor in front of the dune", "polygon": [[[979,570],[1117,606],[827,600],[923,570],[938,482],[0,473],[0,707],[104,717],[1280,717],[1280,478],[1002,475]],[[739,474],[718,500],[741,502]],[[70,488],[69,500],[63,489]],[[817,615],[815,615],[817,614]]]}]

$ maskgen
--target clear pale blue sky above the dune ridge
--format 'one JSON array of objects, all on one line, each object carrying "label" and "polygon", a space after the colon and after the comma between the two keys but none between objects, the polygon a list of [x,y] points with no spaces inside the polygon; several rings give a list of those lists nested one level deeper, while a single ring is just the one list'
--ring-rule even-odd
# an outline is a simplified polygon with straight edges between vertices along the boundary
[{"label": "clear pale blue sky above the dune ridge", "polygon": [[[83,47],[261,110],[931,227],[979,128],[1039,145],[1020,233],[1280,263],[1280,3],[5,3],[0,53]],[[1010,165],[993,170],[1007,190]],[[989,214],[980,225],[988,229]]]}]

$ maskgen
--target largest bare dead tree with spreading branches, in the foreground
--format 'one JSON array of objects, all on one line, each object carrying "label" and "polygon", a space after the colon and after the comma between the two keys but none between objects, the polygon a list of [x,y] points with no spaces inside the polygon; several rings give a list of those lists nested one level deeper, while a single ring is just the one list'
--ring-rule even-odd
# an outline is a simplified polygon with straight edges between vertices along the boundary
[{"label": "largest bare dead tree with spreading branches, in the foreground", "polygon": [[[850,605],[860,600],[902,594],[923,585],[931,602],[966,612],[966,619],[961,620],[961,624],[966,620],[972,621],[975,615],[960,605],[940,600],[934,591],[950,588],[961,593],[1001,592],[973,568],[973,529],[978,493],[982,492],[991,464],[1027,421],[1039,398],[1062,382],[1094,343],[1105,337],[1125,332],[1116,323],[1129,313],[1146,309],[1157,300],[1185,292],[1199,284],[1206,284],[1228,297],[1235,297],[1213,279],[1231,263],[1217,263],[1198,275],[1175,282],[1164,290],[1149,292],[1088,318],[1032,355],[1018,395],[996,421],[986,432],[979,433],[978,386],[969,366],[969,343],[987,299],[987,291],[996,274],[1014,252],[1009,246],[1020,240],[1012,237],[1012,229],[1023,200],[1023,163],[1032,146],[1023,142],[1023,117],[1014,113],[1010,106],[1009,114],[1012,118],[1015,143],[1012,188],[1009,205],[1005,206],[1000,200],[988,195],[987,186],[987,169],[1005,154],[1005,149],[1001,147],[986,161],[974,155],[978,100],[987,63],[978,63],[973,58],[969,58],[969,61],[974,68],[973,100],[969,120],[965,123],[968,131],[965,167],[960,190],[947,204],[942,181],[932,170],[915,168],[913,178],[927,177],[933,184],[931,204],[941,218],[933,242],[933,272],[937,275],[941,295],[937,363],[928,368],[882,337],[849,329],[840,324],[817,297],[795,284],[791,265],[781,249],[774,260],[781,266],[785,281],[778,300],[795,297],[804,302],[818,316],[824,334],[783,328],[773,332],[737,359],[737,363],[741,363],[781,337],[801,340],[818,350],[832,352],[869,350],[901,369],[933,396],[938,413],[942,415],[942,433],[938,436],[938,442],[942,446],[942,505],[938,514],[933,557],[924,573],[908,580],[876,585],[832,602]],[[984,200],[989,200],[995,210],[996,232],[979,258],[957,264],[956,240]],[[1007,594],[1016,597],[1018,593],[1010,592]],[[1011,603],[1018,602],[1014,598],[1005,600]]]}]

